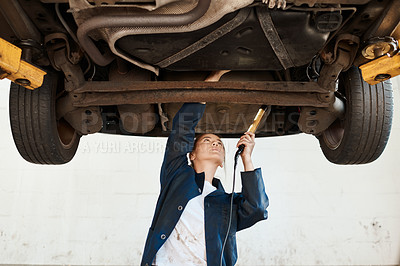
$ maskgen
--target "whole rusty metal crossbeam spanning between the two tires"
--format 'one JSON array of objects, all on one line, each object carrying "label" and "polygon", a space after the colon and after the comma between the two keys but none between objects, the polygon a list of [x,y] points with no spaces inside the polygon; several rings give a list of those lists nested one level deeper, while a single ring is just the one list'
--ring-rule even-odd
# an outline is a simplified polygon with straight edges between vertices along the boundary
[{"label": "whole rusty metal crossbeam spanning between the two tires", "polygon": [[74,107],[203,101],[328,107],[334,101],[316,82],[93,81],[70,93]]}]

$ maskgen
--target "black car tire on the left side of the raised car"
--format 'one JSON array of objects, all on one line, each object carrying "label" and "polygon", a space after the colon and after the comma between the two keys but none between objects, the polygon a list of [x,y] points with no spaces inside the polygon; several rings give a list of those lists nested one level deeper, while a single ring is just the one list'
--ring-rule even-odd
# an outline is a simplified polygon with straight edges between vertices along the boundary
[{"label": "black car tire on the left side of the raised car", "polygon": [[56,95],[63,90],[63,77],[54,73],[48,73],[35,90],[11,83],[11,131],[26,161],[64,164],[74,157],[80,135],[64,119],[56,119]]}]

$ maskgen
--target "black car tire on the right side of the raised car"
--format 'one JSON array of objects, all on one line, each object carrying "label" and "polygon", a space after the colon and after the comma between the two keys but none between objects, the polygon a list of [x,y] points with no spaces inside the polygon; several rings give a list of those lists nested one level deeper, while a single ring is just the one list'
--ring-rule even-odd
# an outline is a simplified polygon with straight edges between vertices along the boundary
[{"label": "black car tire on the right side of the raised car", "polygon": [[393,116],[391,81],[369,85],[357,67],[339,76],[339,96],[345,116],[319,137],[325,157],[335,164],[366,164],[375,161],[389,139]]}]

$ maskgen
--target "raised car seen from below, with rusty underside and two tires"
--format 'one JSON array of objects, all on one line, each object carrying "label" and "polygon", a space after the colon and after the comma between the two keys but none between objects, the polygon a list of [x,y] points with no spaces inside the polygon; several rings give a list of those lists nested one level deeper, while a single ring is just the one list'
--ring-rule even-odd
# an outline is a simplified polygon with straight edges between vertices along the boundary
[{"label": "raised car seen from below, with rusty underside and two tires", "polygon": [[269,105],[257,136],[315,135],[336,164],[372,162],[388,141],[400,1],[9,0],[0,9],[0,37],[47,73],[36,89],[29,75],[11,77],[11,129],[29,162],[69,162],[96,132],[168,136],[183,102],[206,101],[196,132],[223,137],[240,136]]}]

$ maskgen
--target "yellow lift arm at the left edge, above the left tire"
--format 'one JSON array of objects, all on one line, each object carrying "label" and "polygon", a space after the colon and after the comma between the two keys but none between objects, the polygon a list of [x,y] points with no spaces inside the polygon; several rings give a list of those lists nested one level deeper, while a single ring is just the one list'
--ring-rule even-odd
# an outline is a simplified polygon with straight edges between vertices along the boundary
[{"label": "yellow lift arm at the left edge, above the left tire", "polygon": [[0,38],[0,79],[34,90],[43,83],[46,72],[21,60],[22,50]]}]

